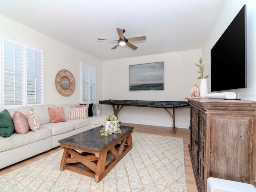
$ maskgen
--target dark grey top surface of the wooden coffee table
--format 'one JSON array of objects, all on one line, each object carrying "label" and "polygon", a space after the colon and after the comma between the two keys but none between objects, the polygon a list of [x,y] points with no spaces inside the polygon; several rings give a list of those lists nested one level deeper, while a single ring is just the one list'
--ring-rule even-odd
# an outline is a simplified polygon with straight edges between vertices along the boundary
[{"label": "dark grey top surface of the wooden coffee table", "polygon": [[68,138],[59,140],[59,143],[99,152],[133,129],[133,127],[130,126],[120,126],[121,133],[101,136],[100,130],[102,128],[103,126],[99,126],[82,133],[75,134]]}]

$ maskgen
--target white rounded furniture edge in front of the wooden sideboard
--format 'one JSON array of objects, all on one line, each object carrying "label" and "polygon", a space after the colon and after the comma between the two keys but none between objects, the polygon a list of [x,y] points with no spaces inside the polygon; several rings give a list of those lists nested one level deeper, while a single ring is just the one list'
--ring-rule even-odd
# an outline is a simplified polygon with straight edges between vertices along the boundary
[{"label": "white rounded furniture edge in front of the wooden sideboard", "polygon": [[209,177],[207,192],[256,192],[256,188],[247,183]]}]

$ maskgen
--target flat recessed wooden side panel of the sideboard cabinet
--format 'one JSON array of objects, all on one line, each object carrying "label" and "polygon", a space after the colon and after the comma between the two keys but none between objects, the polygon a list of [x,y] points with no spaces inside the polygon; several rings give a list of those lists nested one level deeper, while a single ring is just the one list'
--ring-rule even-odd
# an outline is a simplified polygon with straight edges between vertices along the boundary
[{"label": "flat recessed wooden side panel of the sideboard cabinet", "polygon": [[252,126],[250,116],[210,117],[209,176],[250,183]]}]

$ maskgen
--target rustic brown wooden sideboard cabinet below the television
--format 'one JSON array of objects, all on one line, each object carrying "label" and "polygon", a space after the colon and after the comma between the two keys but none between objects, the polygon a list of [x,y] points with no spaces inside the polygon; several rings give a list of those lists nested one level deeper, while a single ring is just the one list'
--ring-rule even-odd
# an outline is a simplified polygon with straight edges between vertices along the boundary
[{"label": "rustic brown wooden sideboard cabinet below the television", "polygon": [[256,186],[256,101],[188,99],[188,146],[198,192],[208,177]]}]

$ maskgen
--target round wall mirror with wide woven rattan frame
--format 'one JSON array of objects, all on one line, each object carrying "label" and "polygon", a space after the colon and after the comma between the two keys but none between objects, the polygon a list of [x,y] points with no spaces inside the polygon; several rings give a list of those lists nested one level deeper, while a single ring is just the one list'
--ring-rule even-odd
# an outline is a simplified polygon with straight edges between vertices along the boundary
[{"label": "round wall mirror with wide woven rattan frame", "polygon": [[75,78],[70,71],[62,69],[55,77],[55,86],[63,96],[70,96],[76,87]]}]

